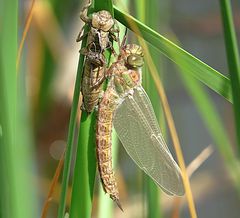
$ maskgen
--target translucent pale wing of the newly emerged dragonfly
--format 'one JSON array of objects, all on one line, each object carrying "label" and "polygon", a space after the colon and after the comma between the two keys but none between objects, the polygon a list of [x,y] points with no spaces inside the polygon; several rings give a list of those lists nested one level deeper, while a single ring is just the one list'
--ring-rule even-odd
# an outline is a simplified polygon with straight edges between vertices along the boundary
[{"label": "translucent pale wing of the newly emerged dragonfly", "polygon": [[117,107],[113,124],[133,161],[167,194],[183,195],[180,169],[167,148],[142,87]]}]

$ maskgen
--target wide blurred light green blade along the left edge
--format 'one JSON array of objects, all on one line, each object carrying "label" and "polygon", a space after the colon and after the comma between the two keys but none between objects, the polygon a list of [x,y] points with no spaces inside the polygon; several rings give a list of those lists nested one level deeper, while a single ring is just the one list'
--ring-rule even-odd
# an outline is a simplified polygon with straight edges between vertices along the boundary
[{"label": "wide blurred light green blade along the left edge", "polygon": [[24,77],[18,81],[16,71],[18,1],[0,3],[0,20],[0,216],[30,218],[37,214],[38,202],[30,175],[35,165]]}]

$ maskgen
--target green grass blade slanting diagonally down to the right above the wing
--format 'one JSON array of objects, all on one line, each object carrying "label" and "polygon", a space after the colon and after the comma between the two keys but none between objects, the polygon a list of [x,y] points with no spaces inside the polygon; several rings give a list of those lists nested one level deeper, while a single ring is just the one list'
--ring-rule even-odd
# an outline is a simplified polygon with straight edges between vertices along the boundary
[{"label": "green grass blade slanting diagonally down to the right above the wing", "polygon": [[[230,81],[226,76],[203,63],[201,60],[197,59],[184,49],[169,41],[156,31],[147,27],[137,19],[122,12],[115,6],[114,14],[115,18],[119,22],[131,29],[137,35],[140,35],[165,56],[175,62],[178,67],[184,71],[184,73],[194,76],[213,91],[232,102]],[[134,28],[134,26],[136,26],[139,31]]]}]

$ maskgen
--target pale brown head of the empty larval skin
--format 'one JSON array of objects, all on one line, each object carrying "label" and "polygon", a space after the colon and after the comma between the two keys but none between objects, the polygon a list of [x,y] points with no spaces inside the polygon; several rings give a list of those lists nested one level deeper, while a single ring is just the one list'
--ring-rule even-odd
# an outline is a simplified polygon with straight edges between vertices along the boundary
[{"label": "pale brown head of the empty larval skin", "polygon": [[92,14],[92,26],[96,29],[108,32],[114,25],[112,15],[105,10]]}]

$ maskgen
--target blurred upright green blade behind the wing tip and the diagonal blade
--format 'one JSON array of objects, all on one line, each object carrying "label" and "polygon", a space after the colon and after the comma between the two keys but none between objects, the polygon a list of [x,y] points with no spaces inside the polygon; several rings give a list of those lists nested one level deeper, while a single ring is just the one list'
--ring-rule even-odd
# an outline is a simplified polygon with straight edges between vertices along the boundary
[{"label": "blurred upright green blade behind the wing tip and the diagonal blade", "polygon": [[[138,18],[148,26],[157,28],[158,23],[157,21],[160,20],[160,13],[157,13],[157,10],[160,8],[160,2],[156,2],[154,0],[150,0],[147,4],[145,1],[136,2],[137,13],[139,14]],[[151,16],[151,14],[155,14],[155,16]],[[162,69],[160,67],[161,58],[158,55],[156,49],[154,50],[153,47],[149,47],[149,53],[153,59],[154,64],[157,64],[158,69]],[[160,117],[164,119],[162,111],[162,105],[159,104],[160,99],[159,95],[156,90],[156,86],[153,84],[150,73],[148,72],[149,69],[145,67],[144,75],[143,75],[143,85],[148,93],[150,100],[153,104],[153,108],[157,117],[157,120],[160,120]],[[160,72],[159,72],[160,73]],[[161,120],[163,121],[163,120]],[[161,122],[161,123],[164,123]],[[144,184],[146,185],[146,197],[147,197],[147,217],[148,218],[160,218],[162,217],[161,209],[160,209],[160,189],[157,185],[150,179],[148,176],[145,176]]]}]

